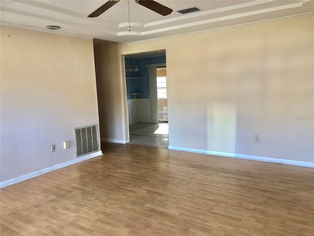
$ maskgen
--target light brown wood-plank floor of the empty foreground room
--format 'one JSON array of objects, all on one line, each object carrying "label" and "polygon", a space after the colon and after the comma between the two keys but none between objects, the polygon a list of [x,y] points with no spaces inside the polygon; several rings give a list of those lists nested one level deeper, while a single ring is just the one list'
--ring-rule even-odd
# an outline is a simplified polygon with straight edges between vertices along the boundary
[{"label": "light brown wood-plank floor of the empty foreground room", "polygon": [[313,236],[313,169],[136,145],[4,187],[1,236]]}]

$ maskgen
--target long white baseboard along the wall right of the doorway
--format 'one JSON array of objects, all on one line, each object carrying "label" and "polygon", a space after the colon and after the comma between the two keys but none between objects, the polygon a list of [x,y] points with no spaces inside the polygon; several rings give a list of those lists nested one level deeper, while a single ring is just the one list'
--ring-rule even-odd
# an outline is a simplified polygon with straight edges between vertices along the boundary
[{"label": "long white baseboard along the wall right of the doorway", "polygon": [[307,161],[296,161],[296,160],[288,160],[288,159],[273,158],[273,157],[266,157],[266,156],[253,156],[253,155],[238,154],[238,153],[232,153],[232,152],[211,151],[211,150],[205,150],[205,149],[184,148],[184,147],[177,147],[177,146],[168,146],[168,149],[314,168],[314,162],[307,162]]}]

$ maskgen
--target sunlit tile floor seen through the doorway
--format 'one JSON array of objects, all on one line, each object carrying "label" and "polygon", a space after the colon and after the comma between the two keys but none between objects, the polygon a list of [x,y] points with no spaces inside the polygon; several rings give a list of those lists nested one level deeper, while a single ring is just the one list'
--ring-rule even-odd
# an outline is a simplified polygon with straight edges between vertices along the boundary
[{"label": "sunlit tile floor seen through the doorway", "polygon": [[168,123],[130,124],[130,144],[168,148]]}]

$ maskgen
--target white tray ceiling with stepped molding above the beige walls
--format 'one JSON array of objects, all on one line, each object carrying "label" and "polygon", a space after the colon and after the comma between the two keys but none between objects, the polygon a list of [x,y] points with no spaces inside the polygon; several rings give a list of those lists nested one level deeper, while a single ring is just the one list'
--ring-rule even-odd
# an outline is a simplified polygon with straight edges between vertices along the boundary
[{"label": "white tray ceiling with stepped molding above the beige walls", "polygon": [[[170,15],[161,16],[130,0],[129,32],[128,0],[121,0],[97,18],[87,17],[106,1],[0,0],[1,25],[133,43],[314,12],[314,0],[157,0],[173,9]],[[177,12],[193,6],[201,11]],[[46,29],[49,25],[61,29]]]}]

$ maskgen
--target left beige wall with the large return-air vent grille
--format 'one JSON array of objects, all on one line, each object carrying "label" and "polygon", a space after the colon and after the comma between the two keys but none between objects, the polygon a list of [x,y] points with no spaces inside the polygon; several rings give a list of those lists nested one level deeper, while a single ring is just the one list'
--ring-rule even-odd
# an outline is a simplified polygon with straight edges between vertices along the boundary
[{"label": "left beige wall with the large return-air vent grille", "polygon": [[1,27],[0,65],[1,181],[76,158],[73,128],[99,123],[93,41]]}]

